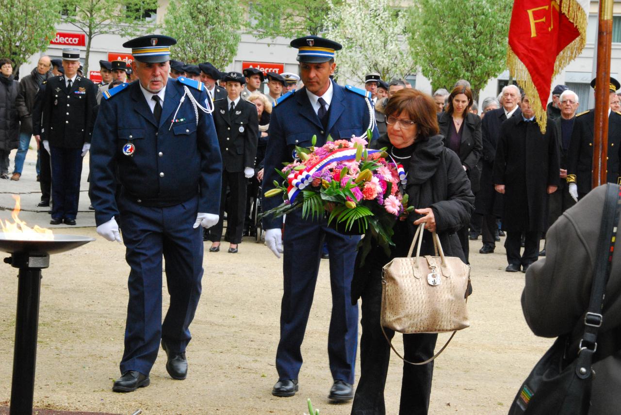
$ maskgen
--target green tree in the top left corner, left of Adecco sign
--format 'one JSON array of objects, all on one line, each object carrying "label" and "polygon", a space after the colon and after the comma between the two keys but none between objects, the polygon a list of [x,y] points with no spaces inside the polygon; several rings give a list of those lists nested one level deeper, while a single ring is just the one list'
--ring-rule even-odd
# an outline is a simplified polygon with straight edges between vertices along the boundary
[{"label": "green tree in the top left corner, left of Adecco sign", "polygon": [[0,58],[16,68],[45,50],[60,20],[58,0],[0,0]]}]

